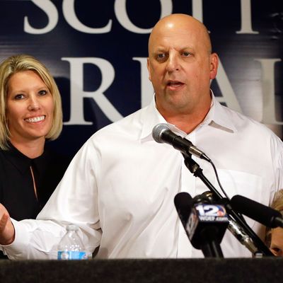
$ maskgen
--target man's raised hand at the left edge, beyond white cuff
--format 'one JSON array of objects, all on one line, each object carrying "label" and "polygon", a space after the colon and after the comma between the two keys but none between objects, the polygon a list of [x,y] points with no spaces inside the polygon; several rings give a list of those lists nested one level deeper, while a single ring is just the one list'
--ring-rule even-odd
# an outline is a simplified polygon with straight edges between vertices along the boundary
[{"label": "man's raised hand at the left edge, beyond white cuff", "polygon": [[15,228],[4,205],[0,204],[0,244],[8,245],[15,239]]}]

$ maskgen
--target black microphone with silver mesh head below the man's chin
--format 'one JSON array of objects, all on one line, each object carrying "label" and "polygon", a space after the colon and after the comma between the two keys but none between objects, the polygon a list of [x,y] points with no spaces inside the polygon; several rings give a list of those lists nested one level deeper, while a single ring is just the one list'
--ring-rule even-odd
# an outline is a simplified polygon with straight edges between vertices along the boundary
[{"label": "black microphone with silver mesh head below the man's chin", "polygon": [[210,162],[210,158],[204,154],[203,151],[197,149],[188,139],[178,136],[169,129],[169,126],[165,123],[158,124],[152,129],[152,137],[159,144],[171,144],[174,149],[178,149],[183,154],[192,154],[198,158],[204,159]]}]

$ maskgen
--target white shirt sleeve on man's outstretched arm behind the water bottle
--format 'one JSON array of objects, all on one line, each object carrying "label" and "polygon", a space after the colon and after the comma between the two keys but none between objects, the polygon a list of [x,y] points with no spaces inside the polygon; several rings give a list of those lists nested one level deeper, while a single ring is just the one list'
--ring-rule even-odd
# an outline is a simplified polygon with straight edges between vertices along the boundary
[{"label": "white shirt sleeve on man's outstretched arm behind the water bottle", "polygon": [[[16,238],[2,246],[11,259],[54,259],[67,224],[79,226],[88,253],[100,245],[96,168],[100,158],[88,140],[71,161],[62,181],[37,219],[13,221]],[[96,167],[96,168],[95,168]]]}]

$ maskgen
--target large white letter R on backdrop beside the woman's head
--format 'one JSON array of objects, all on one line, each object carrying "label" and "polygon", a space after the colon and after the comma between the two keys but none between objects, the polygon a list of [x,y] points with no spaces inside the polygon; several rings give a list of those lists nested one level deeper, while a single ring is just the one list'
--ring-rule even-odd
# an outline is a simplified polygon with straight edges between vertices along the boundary
[{"label": "large white letter R on backdrop beside the woman's head", "polygon": [[[83,98],[93,98],[111,122],[122,119],[122,115],[115,109],[103,93],[109,88],[115,78],[115,70],[110,62],[102,58],[93,57],[64,57],[62,60],[70,63],[71,81],[71,115],[70,120],[68,122],[64,122],[64,125],[93,124],[92,122],[86,122],[84,120]],[[101,84],[96,91],[83,91],[83,64],[94,64],[100,69],[102,79]]]}]

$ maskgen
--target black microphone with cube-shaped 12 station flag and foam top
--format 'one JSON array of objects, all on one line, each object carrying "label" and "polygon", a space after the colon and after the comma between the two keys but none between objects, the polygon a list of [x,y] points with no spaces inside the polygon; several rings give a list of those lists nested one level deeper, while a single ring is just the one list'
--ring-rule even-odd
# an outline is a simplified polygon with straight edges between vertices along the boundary
[{"label": "black microphone with cube-shaped 12 station flag and foam top", "polygon": [[174,203],[192,246],[205,257],[223,258],[220,243],[228,225],[224,206],[194,204],[187,192],[175,195]]}]

